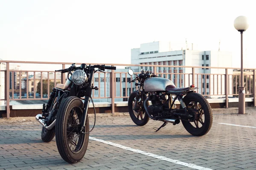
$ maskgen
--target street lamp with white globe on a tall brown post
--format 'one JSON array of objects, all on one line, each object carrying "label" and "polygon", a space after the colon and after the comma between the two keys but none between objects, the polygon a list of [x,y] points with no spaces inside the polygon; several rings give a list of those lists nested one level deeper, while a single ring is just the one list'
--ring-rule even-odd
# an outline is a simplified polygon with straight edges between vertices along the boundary
[{"label": "street lamp with white globe on a tall brown post", "polygon": [[241,76],[239,89],[239,107],[238,113],[245,113],[245,87],[244,87],[244,67],[243,67],[243,32],[249,27],[247,18],[239,16],[234,20],[234,27],[241,33]]}]

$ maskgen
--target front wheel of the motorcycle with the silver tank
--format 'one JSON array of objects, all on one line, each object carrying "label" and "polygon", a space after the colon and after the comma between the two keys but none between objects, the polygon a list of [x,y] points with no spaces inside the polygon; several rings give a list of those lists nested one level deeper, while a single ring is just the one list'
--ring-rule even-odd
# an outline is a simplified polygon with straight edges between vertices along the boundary
[{"label": "front wheel of the motorcycle with the silver tank", "polygon": [[[137,107],[134,110],[135,99],[137,96],[137,91],[134,91],[130,94],[128,99],[128,110],[131,116],[132,121],[138,126],[144,126],[148,123],[149,117],[148,114],[145,113],[143,102],[146,99],[146,95],[144,95],[143,99],[139,99],[137,102]],[[149,103],[147,103],[149,105]]]}]

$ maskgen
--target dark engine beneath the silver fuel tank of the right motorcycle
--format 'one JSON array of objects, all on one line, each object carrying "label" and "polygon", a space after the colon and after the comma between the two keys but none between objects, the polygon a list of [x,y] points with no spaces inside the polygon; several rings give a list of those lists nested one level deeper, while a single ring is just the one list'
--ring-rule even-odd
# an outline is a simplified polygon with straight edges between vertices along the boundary
[{"label": "dark engine beneath the silver fuel tank of the right motorcycle", "polygon": [[149,95],[152,105],[148,106],[148,113],[153,116],[162,116],[165,109],[169,109],[169,97],[165,93],[152,93]]}]

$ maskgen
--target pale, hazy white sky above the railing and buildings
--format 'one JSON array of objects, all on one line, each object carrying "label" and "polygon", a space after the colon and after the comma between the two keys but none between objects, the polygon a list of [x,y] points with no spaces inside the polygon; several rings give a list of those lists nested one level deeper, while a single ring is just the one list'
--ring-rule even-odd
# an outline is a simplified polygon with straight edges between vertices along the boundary
[{"label": "pale, hazy white sky above the railing and buildings", "polygon": [[244,68],[255,68],[253,0],[0,0],[0,59],[131,63],[131,49],[154,41],[172,50],[231,51],[241,66],[236,17],[244,15]]}]

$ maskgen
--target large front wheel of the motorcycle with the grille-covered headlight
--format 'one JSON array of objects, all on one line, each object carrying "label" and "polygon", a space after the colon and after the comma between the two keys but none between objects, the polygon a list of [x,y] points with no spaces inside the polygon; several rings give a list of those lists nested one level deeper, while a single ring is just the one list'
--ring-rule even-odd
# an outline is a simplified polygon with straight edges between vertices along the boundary
[{"label": "large front wheel of the motorcycle with the grille-covered headlight", "polygon": [[80,161],[87,150],[89,140],[89,119],[86,116],[85,134],[80,131],[84,104],[76,96],[70,96],[61,103],[57,114],[55,132],[58,151],[65,161]]}]

